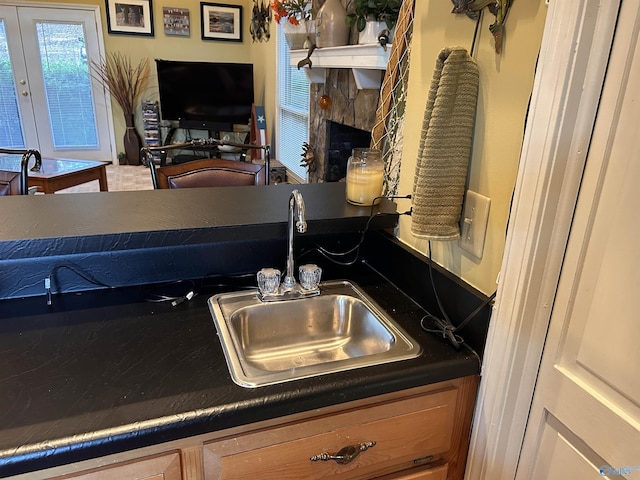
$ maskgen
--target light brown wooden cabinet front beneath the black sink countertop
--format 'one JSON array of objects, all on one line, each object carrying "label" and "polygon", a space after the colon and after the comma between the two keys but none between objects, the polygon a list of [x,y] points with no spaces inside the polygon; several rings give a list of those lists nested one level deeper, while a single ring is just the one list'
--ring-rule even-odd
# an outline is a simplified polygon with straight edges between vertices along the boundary
[{"label": "light brown wooden cabinet front beneath the black sink countertop", "polygon": [[57,467],[38,478],[461,480],[477,383],[470,376],[417,387]]}]

